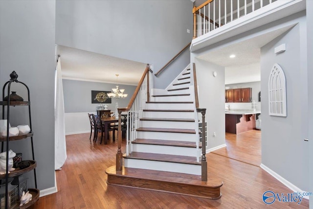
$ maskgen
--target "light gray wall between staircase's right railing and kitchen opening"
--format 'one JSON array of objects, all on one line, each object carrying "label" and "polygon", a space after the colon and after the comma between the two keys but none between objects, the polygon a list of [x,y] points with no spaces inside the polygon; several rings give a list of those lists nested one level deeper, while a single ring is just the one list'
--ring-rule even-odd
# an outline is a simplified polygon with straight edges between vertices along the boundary
[{"label": "light gray wall between staircase's right railing and kitchen opening", "polygon": [[[225,70],[224,67],[200,59],[195,59],[195,64],[199,107],[206,108],[207,148],[210,149],[225,143]],[[214,71],[217,72],[216,77],[213,76]],[[213,137],[213,132],[216,137]]]}]

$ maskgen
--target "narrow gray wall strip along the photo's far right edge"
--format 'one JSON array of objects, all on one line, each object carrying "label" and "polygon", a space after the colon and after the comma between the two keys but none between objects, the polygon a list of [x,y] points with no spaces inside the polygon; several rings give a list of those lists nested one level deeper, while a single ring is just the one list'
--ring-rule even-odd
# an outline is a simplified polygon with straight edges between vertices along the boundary
[{"label": "narrow gray wall strip along the photo's far right edge", "polygon": [[[307,0],[307,20],[313,20],[313,1]],[[313,107],[313,27],[312,22],[307,21],[307,40],[308,40],[308,107]],[[310,38],[309,38],[310,37]],[[310,168],[310,191],[313,191],[313,108],[309,108],[309,149],[310,149],[310,160],[309,160],[309,168]],[[313,197],[310,197],[310,208],[313,209]]]}]

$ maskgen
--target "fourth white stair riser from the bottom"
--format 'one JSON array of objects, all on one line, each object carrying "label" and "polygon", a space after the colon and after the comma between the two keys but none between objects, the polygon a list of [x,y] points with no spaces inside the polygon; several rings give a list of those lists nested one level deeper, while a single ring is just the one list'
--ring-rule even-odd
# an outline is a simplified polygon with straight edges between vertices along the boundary
[{"label": "fourth white stair riser from the bottom", "polygon": [[195,122],[140,120],[140,127],[191,129],[195,127]]}]

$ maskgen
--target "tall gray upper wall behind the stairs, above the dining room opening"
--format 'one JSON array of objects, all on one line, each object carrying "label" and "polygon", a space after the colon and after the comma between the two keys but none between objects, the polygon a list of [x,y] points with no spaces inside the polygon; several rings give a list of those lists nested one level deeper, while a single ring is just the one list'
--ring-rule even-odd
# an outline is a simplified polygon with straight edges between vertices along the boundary
[{"label": "tall gray upper wall behind the stairs, above the dining room opening", "polygon": [[[58,0],[56,44],[153,64],[156,72],[191,42],[192,7],[190,0]],[[156,88],[169,85],[190,54],[183,59]]]}]

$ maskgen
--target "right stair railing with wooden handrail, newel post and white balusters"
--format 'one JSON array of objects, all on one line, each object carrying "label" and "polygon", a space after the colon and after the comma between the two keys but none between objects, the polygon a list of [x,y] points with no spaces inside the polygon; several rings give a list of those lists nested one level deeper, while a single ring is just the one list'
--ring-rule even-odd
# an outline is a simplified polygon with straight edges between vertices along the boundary
[{"label": "right stair railing with wooden handrail, newel post and white balusters", "polygon": [[[207,162],[206,162],[206,145],[205,145],[205,108],[199,108],[199,97],[198,97],[198,84],[197,84],[197,74],[196,74],[196,64],[193,63],[193,77],[194,77],[194,91],[195,91],[195,106],[196,106],[196,111],[197,113],[195,114],[196,116],[196,136],[197,136],[197,141],[196,141],[196,146],[197,146],[197,153],[199,153],[199,125],[197,124],[199,119],[198,119],[198,113],[201,113],[202,117],[202,127],[201,127],[201,181],[206,182],[207,181]],[[197,157],[197,161],[199,161],[199,158]]]}]

